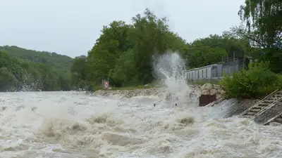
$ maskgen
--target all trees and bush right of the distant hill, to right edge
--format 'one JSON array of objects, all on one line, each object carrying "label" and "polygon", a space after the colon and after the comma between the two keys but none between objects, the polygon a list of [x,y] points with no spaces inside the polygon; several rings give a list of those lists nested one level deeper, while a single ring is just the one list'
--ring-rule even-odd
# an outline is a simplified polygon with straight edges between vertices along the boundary
[{"label": "all trees and bush right of the distant hill, to right edge", "polygon": [[144,15],[133,17],[131,25],[114,21],[104,26],[87,55],[75,58],[73,83],[77,88],[99,86],[103,79],[114,86],[149,84],[154,80],[154,56],[169,50],[178,51],[188,68],[221,62],[235,53],[238,58],[252,58],[255,64],[233,78],[224,77],[228,95],[264,95],[280,87],[281,13],[280,1],[248,0],[240,7],[241,25],[188,43],[169,29],[165,18],[157,18],[147,9]]}]

